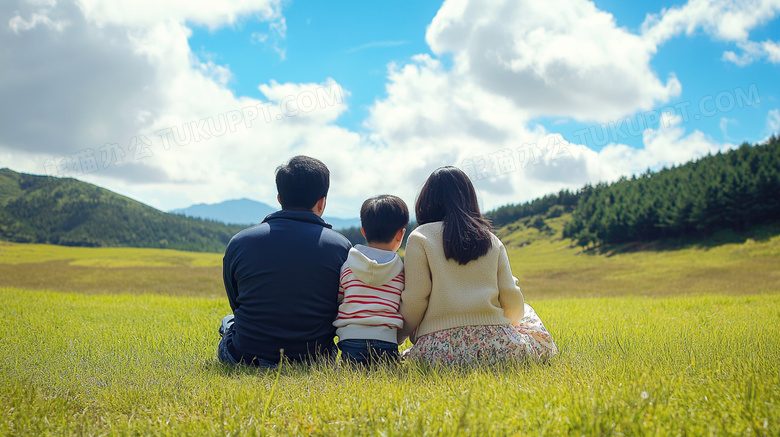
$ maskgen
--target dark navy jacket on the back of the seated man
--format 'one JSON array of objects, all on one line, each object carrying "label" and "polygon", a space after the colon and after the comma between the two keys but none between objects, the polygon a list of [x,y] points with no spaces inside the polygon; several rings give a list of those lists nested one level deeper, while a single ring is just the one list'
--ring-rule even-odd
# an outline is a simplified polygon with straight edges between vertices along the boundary
[{"label": "dark navy jacket on the back of the seated man", "polygon": [[339,269],[350,247],[309,211],[279,211],[236,234],[223,274],[238,355],[276,362],[280,349],[293,359],[332,350]]}]

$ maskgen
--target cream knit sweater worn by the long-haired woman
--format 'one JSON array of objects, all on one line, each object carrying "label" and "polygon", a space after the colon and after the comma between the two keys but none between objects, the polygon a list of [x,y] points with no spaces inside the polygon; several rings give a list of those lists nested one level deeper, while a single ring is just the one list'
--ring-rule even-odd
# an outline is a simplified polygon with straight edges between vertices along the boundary
[{"label": "cream knit sweater worn by the long-haired woman", "polygon": [[406,242],[406,288],[401,294],[401,344],[458,326],[515,324],[523,318],[523,294],[512,276],[509,257],[495,235],[493,247],[460,265],[444,257],[442,222],[424,224]]}]

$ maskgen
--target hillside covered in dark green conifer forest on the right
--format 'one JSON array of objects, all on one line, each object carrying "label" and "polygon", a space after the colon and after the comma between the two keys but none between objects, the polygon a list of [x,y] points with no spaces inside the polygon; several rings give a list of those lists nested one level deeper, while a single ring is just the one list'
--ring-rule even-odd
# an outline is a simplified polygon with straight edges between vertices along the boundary
[{"label": "hillside covered in dark green conifer forest on the right", "polygon": [[[702,239],[780,221],[780,141],[706,156],[679,167],[561,191],[486,216],[499,228],[571,213],[563,236],[582,246]],[[526,223],[528,224],[528,223]]]}]

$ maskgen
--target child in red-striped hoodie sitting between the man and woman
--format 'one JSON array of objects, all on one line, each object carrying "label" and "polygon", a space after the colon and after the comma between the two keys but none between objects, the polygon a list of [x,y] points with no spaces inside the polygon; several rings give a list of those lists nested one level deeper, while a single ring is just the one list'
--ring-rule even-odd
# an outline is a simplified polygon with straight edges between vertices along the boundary
[{"label": "child in red-striped hoodie sitting between the man and woman", "polygon": [[347,362],[395,361],[404,289],[404,264],[396,251],[409,224],[409,210],[396,196],[374,196],[363,202],[360,224],[366,245],[350,249],[341,266],[341,304],[333,322],[338,348]]}]

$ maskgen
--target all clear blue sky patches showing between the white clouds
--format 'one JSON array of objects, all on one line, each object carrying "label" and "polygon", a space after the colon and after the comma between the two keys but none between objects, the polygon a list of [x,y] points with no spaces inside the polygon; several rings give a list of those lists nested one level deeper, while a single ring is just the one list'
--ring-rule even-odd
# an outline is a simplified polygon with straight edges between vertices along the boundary
[{"label": "all clear blue sky patches showing between the white clouds", "polygon": [[[639,33],[647,14],[685,5],[685,1],[595,1],[601,10],[611,13],[618,26]],[[320,82],[331,77],[351,93],[347,98],[349,110],[336,124],[354,131],[364,131],[363,121],[368,108],[386,96],[387,66],[403,64],[420,53],[431,54],[425,42],[427,25],[441,5],[437,2],[341,2],[338,6],[325,2],[296,1],[285,4],[284,16],[287,36],[284,39],[258,43],[253,34],[273,38],[275,32],[268,23],[247,20],[216,31],[207,26],[193,26],[189,44],[199,56],[226,64],[232,72],[228,87],[237,95],[262,98],[257,85],[270,80],[291,82]],[[752,30],[756,40],[780,37],[776,21]],[[284,56],[274,50],[274,44],[284,49]],[[698,101],[703,96],[715,96],[727,90],[742,88],[746,92],[755,84],[759,96],[775,99],[780,92],[776,65],[762,64],[743,68],[724,63],[724,50],[733,50],[734,44],[713,41],[699,31],[690,37],[677,37],[662,46],[651,65],[660,77],[675,74],[684,83],[683,92],[670,103]],[[447,56],[443,57],[443,61]],[[773,76],[773,74],[775,76]],[[731,108],[727,97],[723,104],[707,105],[715,115],[702,115],[690,126],[702,130],[719,141],[757,142],[766,135],[765,120],[756,107]],[[736,106],[736,104],[735,104]],[[777,106],[777,105],[775,105]],[[664,106],[658,106],[658,109]],[[692,108],[693,109],[693,108]],[[723,111],[719,110],[723,109]],[[739,113],[734,113],[738,109]],[[627,114],[626,116],[631,116]],[[722,119],[727,118],[725,128]],[[534,121],[576,141],[574,134],[592,123],[570,118],[539,117]],[[655,124],[653,127],[656,127]],[[594,141],[600,149],[604,141]],[[640,147],[641,136],[630,136],[626,141]]]}]

